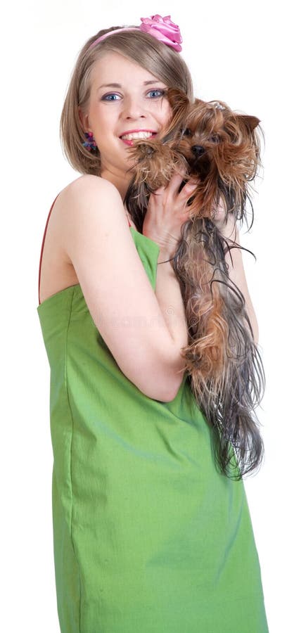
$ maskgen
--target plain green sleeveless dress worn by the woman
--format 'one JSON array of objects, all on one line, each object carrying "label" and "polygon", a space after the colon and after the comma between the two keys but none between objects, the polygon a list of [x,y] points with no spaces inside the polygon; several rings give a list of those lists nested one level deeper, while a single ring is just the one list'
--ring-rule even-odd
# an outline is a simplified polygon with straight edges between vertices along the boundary
[{"label": "plain green sleeveless dress worn by the woman", "polygon": [[[158,245],[131,232],[155,288]],[[51,366],[61,632],[266,633],[243,481],[215,468],[186,376],[172,402],[143,395],[79,285],[37,310]]]}]

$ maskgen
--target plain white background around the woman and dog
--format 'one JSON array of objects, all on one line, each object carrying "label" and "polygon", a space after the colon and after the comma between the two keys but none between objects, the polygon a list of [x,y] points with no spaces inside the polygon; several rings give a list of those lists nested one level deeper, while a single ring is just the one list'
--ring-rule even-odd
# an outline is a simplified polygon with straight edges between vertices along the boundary
[{"label": "plain white background around the woman and dog", "polygon": [[255,223],[242,243],[257,256],[255,262],[244,254],[244,262],[267,375],[260,410],[265,460],[260,473],[245,480],[245,489],[269,631],[288,633],[294,627],[293,51],[286,1],[210,0],[188,8],[172,0],[28,0],[21,5],[11,2],[1,15],[5,597],[0,620],[6,633],[59,631],[51,528],[49,366],[37,316],[37,281],[49,208],[78,175],[65,162],[59,143],[65,90],[77,53],[91,34],[110,25],[139,24],[140,17],[154,13],[171,15],[179,24],[182,54],[197,96],[226,101],[232,109],[262,120],[264,170],[256,182]]}]

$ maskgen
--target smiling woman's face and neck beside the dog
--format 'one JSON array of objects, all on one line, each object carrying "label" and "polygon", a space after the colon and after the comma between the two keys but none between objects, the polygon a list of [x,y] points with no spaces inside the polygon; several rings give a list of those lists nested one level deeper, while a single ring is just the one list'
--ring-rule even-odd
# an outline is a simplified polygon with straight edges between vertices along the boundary
[{"label": "smiling woman's face and neck beside the dog", "polygon": [[87,112],[81,116],[84,131],[93,132],[100,151],[103,177],[125,174],[132,166],[128,148],[133,139],[155,136],[170,120],[166,88],[119,53],[110,51],[96,62]]}]

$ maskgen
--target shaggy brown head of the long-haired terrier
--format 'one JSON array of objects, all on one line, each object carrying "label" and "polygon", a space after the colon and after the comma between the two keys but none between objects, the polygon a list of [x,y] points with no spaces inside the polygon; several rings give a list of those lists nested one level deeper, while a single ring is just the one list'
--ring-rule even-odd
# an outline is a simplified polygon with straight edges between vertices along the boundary
[{"label": "shaggy brown head of the long-haired terrier", "polygon": [[222,101],[193,103],[177,148],[198,179],[198,214],[210,217],[222,196],[226,210],[243,217],[248,183],[260,165],[259,123],[257,117],[234,113]]}]

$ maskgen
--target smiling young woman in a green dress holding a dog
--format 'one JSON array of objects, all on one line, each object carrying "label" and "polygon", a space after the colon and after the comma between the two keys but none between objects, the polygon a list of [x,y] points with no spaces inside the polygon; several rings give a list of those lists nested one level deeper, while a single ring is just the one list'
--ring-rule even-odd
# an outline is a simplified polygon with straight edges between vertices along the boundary
[{"label": "smiling young woman in a green dress holding a dog", "polygon": [[[63,108],[65,153],[83,175],[51,207],[38,307],[62,633],[268,630],[243,481],[217,471],[181,357],[185,311],[167,260],[195,185],[179,191],[175,174],[152,195],[143,234],[123,204],[129,146],[170,120],[165,89],[193,98],[180,44],[158,15],[98,32]],[[257,337],[240,261],[234,275]]]}]

